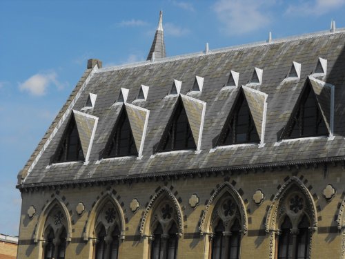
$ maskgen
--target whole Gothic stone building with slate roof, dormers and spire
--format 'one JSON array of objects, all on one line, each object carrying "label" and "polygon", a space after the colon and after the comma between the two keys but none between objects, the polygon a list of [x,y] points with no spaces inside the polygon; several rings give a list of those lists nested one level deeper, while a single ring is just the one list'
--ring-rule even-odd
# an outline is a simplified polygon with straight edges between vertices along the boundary
[{"label": "whole Gothic stone building with slate roof, dormers and spire", "polygon": [[90,59],[18,175],[18,258],[345,258],[345,30]]}]

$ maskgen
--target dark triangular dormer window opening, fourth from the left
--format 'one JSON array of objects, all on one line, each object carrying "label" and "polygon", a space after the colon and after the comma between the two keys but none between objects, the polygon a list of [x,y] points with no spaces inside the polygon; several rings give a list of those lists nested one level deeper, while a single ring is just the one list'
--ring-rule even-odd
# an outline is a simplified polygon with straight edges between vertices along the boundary
[{"label": "dark triangular dormer window opening, fourth from the left", "polygon": [[228,119],[226,119],[226,124],[221,131],[217,144],[219,146],[225,146],[259,142],[259,135],[257,134],[248,102],[241,89],[239,95],[237,95],[235,106],[233,106]]}]

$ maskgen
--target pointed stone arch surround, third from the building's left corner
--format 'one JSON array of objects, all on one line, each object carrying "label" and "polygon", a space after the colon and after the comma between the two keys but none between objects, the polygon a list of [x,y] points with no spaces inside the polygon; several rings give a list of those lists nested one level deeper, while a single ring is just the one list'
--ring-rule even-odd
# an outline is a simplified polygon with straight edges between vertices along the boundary
[{"label": "pointed stone arch surround, third from the building's left corner", "polygon": [[168,198],[168,200],[170,200],[170,202],[172,202],[172,205],[174,206],[174,209],[177,214],[177,222],[176,222],[178,226],[177,228],[179,230],[179,235],[180,236],[182,235],[184,228],[183,228],[183,222],[182,222],[181,207],[175,195],[172,194],[170,189],[164,186],[159,191],[157,191],[157,193],[155,193],[155,195],[151,198],[150,202],[148,203],[148,206],[146,207],[146,210],[144,212],[144,215],[142,217],[141,224],[140,224],[141,236],[149,236],[149,224],[147,222],[151,221],[152,211],[155,210],[155,208],[157,207],[157,204],[159,204],[159,202],[164,200],[164,198]]}]

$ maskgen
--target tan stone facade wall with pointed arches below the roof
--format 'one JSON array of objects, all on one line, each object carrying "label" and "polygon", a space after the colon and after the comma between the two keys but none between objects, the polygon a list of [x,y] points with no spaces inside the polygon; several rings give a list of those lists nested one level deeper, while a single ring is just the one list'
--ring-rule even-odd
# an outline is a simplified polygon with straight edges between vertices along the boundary
[{"label": "tan stone facade wall with pointed arches below the roof", "polygon": [[[164,177],[163,177],[164,178]],[[117,210],[121,225],[119,258],[150,258],[148,256],[152,209],[157,202],[168,200],[176,204],[181,236],[177,258],[208,258],[210,213],[222,190],[234,193],[236,202],[244,205],[246,223],[242,231],[241,258],[275,258],[274,205],[284,191],[300,191],[308,195],[315,218],[312,231],[311,258],[344,258],[344,169],[342,164],[311,165],[279,170],[219,172],[206,175],[183,175],[169,179],[148,179],[145,182],[108,182],[76,184],[56,189],[31,190],[22,193],[20,247],[18,258],[41,258],[43,225],[53,205],[58,204],[66,217],[70,241],[66,258],[93,258],[97,214],[106,202]],[[326,199],[324,189],[332,184],[335,195]],[[264,200],[257,205],[253,195],[257,189]],[[197,194],[199,204],[192,208],[190,196]],[[137,199],[139,209],[132,212],[130,204]],[[238,199],[238,200],[237,200]],[[85,211],[77,212],[82,202]],[[34,204],[35,215],[27,211]],[[315,214],[315,215],[314,215]],[[338,222],[336,221],[337,219]],[[314,226],[313,226],[314,227]],[[273,238],[272,238],[273,236]]]}]

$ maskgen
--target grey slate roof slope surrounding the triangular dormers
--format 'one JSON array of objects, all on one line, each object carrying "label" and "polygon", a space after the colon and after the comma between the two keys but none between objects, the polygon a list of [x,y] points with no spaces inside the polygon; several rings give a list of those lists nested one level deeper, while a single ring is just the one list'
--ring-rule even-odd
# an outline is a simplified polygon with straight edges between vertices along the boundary
[{"label": "grey slate roof slope surrounding the triangular dormers", "polygon": [[[334,137],[279,141],[277,136],[286,126],[299,94],[308,76],[315,70],[319,57],[327,59],[327,74],[317,79],[335,86]],[[293,61],[302,64],[300,79],[285,79]],[[240,89],[224,87],[230,70],[239,73],[239,86],[241,86],[248,83],[255,67],[263,70],[262,84],[246,87],[267,95],[264,145],[242,144],[215,148],[215,142]],[[188,93],[196,75],[204,77],[202,93]],[[178,95],[167,97],[174,79],[182,81],[181,95],[206,103],[200,151],[156,153],[157,145],[178,99]],[[133,102],[141,84],[150,87],[147,99]],[[121,88],[129,89],[128,104],[150,111],[142,156],[139,157],[140,159],[119,157],[100,160],[100,154],[121,111],[121,105],[113,105]],[[313,88],[321,89],[317,84],[314,84]],[[98,117],[98,124],[88,163],[70,162],[50,165],[50,157],[54,155],[59,145],[71,111],[81,111],[89,93],[97,95],[95,107],[84,112]],[[264,102],[262,96],[250,95],[250,93],[246,93],[246,97],[248,95],[253,100],[256,98],[257,106],[261,107]],[[319,98],[319,102],[324,106],[328,99],[329,97],[325,95]],[[344,160],[344,99],[345,30],[319,32],[271,43],[210,50],[208,54],[197,53],[123,67],[98,70],[97,66],[93,69],[89,67],[28,164],[19,173],[19,188],[35,184]],[[195,109],[200,110],[198,107]],[[258,124],[260,114],[258,111],[254,116],[259,121]],[[63,117],[65,119],[62,122]],[[141,122],[143,122],[142,118]],[[55,127],[59,128],[54,131]],[[194,133],[193,137],[196,137]]]}]

